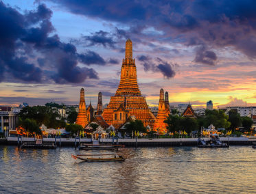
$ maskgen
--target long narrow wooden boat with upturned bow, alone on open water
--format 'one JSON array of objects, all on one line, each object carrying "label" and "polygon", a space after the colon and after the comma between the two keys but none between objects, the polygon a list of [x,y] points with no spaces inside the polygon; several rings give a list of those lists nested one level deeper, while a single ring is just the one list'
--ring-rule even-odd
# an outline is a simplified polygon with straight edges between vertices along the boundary
[{"label": "long narrow wooden boat with upturned bow, alone on open water", "polygon": [[[117,154],[78,154],[78,155],[71,155],[72,158],[80,159],[81,161],[85,162],[115,162],[115,161],[124,161],[125,158],[122,155],[117,155]],[[86,156],[85,158],[83,156]],[[91,156],[113,156],[111,158],[93,158]]]}]

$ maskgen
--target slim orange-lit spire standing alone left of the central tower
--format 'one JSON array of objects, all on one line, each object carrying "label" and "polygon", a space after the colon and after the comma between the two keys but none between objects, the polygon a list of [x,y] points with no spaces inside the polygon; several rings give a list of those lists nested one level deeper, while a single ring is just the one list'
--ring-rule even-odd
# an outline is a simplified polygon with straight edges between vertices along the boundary
[{"label": "slim orange-lit spire standing alone left of the central tower", "polygon": [[80,90],[79,111],[78,111],[78,117],[76,119],[75,124],[80,124],[83,128],[89,124],[87,120],[86,108],[85,108],[84,88],[81,88]]}]

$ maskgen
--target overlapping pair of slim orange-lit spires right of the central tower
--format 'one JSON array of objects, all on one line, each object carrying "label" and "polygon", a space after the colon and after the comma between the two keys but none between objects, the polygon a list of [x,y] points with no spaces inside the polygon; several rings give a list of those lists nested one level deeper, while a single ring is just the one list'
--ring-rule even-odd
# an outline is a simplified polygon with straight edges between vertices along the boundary
[{"label": "overlapping pair of slim orange-lit spires right of the central tower", "polygon": [[167,116],[170,114],[170,105],[168,99],[168,92],[163,93],[163,88],[160,90],[159,98],[159,111],[157,113],[156,122],[154,122],[154,130],[159,133],[165,133],[167,130],[167,124],[164,122]]}]

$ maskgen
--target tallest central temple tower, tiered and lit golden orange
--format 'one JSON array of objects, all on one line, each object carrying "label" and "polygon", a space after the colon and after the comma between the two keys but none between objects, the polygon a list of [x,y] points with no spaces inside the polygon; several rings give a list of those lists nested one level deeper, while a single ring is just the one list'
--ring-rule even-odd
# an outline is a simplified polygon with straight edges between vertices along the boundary
[{"label": "tallest central temple tower, tiered and lit golden orange", "polygon": [[126,41],[126,54],[121,66],[121,79],[115,96],[110,97],[102,117],[108,125],[120,128],[130,115],[141,120],[144,126],[154,126],[155,117],[148,109],[146,98],[141,96],[137,83],[135,59],[132,59],[132,41]]}]

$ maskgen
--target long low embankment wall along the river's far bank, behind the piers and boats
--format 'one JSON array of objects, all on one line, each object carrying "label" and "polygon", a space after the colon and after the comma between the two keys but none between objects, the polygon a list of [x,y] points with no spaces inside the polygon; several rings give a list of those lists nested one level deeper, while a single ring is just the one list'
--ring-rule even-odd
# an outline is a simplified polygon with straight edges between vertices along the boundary
[{"label": "long low embankment wall along the river's far bank, behind the piers and boats", "polygon": [[[208,140],[209,138],[203,138]],[[34,138],[24,137],[23,141],[34,141]],[[45,138],[45,142],[54,143],[54,138]],[[56,140],[57,142],[59,139]],[[75,147],[75,138],[61,138],[62,147]],[[78,139],[76,139],[78,142]],[[117,140],[115,140],[116,142]],[[126,147],[165,147],[165,146],[197,146],[197,138],[163,138],[163,139],[118,139],[118,143]],[[231,146],[252,145],[256,138],[248,137],[220,137],[220,141],[228,143]],[[82,138],[80,143],[91,143],[91,139]],[[100,139],[100,143],[113,143],[113,139]],[[8,137],[8,139],[0,139],[2,145],[17,145],[17,137]]]}]

